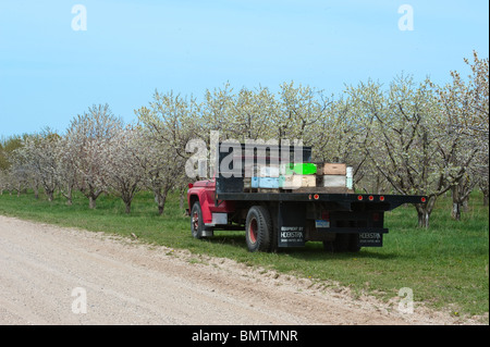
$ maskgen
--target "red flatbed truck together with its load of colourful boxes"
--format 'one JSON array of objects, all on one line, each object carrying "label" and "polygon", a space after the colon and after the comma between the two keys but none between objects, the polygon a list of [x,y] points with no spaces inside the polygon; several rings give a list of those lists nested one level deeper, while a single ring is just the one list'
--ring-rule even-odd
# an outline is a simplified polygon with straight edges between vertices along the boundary
[{"label": "red flatbed truck together with its load of colourful boxes", "polygon": [[244,230],[249,251],[306,241],[322,241],[331,251],[381,247],[388,234],[384,212],[427,201],[425,196],[355,194],[352,170],[313,163],[311,147],[220,142],[217,150],[215,178],[191,184],[187,191],[192,235]]}]

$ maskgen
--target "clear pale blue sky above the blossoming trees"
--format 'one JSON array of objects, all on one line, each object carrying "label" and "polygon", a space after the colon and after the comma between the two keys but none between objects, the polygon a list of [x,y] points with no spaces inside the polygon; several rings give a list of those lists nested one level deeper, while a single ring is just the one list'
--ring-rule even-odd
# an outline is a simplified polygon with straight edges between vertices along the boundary
[{"label": "clear pale blue sky above the blossoming trees", "polygon": [[[74,5],[86,10],[86,30]],[[413,30],[399,21],[413,9]],[[468,74],[488,55],[487,0],[0,1],[0,137],[61,133],[94,103],[135,120],[155,89],[284,82],[339,95],[344,85],[401,73],[416,80]]]}]

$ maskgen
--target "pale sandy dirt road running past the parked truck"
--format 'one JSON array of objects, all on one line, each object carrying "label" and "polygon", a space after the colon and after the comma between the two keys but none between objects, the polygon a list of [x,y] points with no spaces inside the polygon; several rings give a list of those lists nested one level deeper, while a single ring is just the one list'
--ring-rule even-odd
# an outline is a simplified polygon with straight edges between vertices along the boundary
[{"label": "pale sandy dirt road running past the parked truck", "polygon": [[0,215],[0,324],[458,323],[345,292],[226,259]]}]

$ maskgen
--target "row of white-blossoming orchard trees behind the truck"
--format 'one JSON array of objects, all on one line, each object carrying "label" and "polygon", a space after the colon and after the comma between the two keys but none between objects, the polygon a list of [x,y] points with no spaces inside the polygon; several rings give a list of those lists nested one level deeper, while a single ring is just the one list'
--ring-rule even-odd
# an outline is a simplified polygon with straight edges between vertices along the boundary
[{"label": "row of white-blossoming orchard trees behind the truck", "polygon": [[201,101],[173,91],[155,92],[125,125],[109,107],[93,106],[73,117],[63,134],[49,128],[0,144],[0,193],[59,191],[72,203],[74,190],[90,208],[102,193],[121,197],[131,211],[134,195],[149,189],[159,213],[172,189],[185,190],[191,139],[302,139],[314,160],[354,168],[358,190],[427,195],[416,205],[429,226],[437,198],[451,193],[460,219],[469,193],[489,195],[488,58],[465,60],[469,75],[451,72],[451,83],[415,83],[397,76],[389,86],[373,80],[330,96],[284,83],[279,91],[259,86],[207,90]]}]

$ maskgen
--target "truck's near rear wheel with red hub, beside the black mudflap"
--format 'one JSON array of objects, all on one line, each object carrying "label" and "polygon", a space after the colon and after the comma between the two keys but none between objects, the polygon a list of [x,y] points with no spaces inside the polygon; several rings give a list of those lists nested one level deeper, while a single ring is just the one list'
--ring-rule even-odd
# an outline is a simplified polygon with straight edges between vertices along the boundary
[{"label": "truck's near rear wheel with red hub, beside the black mudflap", "polygon": [[249,251],[269,251],[272,223],[269,211],[261,206],[253,206],[247,213],[245,239]]}]

